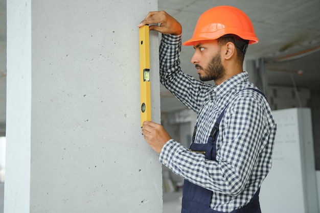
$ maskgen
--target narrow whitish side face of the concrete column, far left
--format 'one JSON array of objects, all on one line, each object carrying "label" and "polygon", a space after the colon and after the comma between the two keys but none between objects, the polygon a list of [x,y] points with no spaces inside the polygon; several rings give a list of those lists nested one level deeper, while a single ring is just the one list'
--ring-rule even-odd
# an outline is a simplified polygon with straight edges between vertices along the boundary
[{"label": "narrow whitish side face of the concrete column, far left", "polygon": [[[31,1],[7,1],[5,212],[29,212],[31,164]],[[17,15],[18,14],[18,15]],[[14,204],[16,205],[14,206]]]}]

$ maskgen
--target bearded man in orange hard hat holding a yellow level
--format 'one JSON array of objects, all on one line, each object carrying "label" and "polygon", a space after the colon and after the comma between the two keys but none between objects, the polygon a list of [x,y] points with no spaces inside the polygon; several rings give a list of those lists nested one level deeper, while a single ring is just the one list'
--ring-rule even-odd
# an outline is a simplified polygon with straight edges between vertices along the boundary
[{"label": "bearded man in orange hard hat holding a yellow level", "polygon": [[242,69],[248,44],[258,42],[251,21],[237,8],[215,7],[199,17],[184,42],[195,49],[191,62],[200,80],[214,80],[215,86],[181,72],[177,20],[150,12],[138,27],[144,25],[162,33],[162,84],[198,114],[190,149],[159,124],[146,121],[142,127],[159,160],[185,178],[182,212],[261,212],[258,195],[271,168],[276,123],[266,97]]}]

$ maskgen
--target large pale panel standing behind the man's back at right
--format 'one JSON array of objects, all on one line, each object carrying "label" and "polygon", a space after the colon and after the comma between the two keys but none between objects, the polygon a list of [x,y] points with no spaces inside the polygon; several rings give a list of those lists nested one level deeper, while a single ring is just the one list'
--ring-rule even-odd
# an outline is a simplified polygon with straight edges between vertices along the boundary
[{"label": "large pale panel standing behind the man's back at right", "polygon": [[277,135],[272,169],[261,186],[262,212],[317,212],[312,133],[305,129],[310,130],[310,109],[277,110],[273,115]]}]

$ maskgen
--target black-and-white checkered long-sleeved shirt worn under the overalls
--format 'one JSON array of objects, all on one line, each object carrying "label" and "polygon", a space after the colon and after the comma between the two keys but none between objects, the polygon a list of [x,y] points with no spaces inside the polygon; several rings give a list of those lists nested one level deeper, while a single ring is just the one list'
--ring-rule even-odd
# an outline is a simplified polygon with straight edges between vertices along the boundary
[{"label": "black-and-white checkered long-sleeved shirt worn under the overalls", "polygon": [[218,86],[204,84],[181,72],[180,49],[181,36],[162,36],[161,83],[198,114],[194,143],[207,143],[226,107],[217,138],[217,161],[189,151],[174,139],[167,141],[159,160],[175,174],[212,191],[212,209],[230,212],[246,205],[268,174],[276,123],[262,94],[252,89],[240,91],[257,88],[248,81],[247,73]]}]

